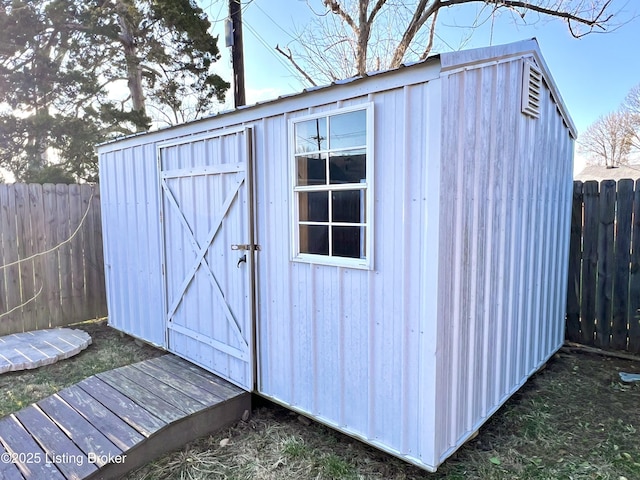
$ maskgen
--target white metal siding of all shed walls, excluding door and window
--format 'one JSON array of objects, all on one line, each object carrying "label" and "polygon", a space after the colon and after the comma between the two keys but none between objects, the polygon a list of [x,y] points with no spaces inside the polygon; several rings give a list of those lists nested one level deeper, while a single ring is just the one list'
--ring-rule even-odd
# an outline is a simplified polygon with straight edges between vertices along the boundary
[{"label": "white metal siding of all shed walls, excluding door and window", "polygon": [[[434,469],[563,338],[570,119],[520,113],[525,43],[102,146],[111,324],[165,345],[156,143],[251,126],[259,392]],[[373,270],[292,262],[288,119],[366,102]]]}]

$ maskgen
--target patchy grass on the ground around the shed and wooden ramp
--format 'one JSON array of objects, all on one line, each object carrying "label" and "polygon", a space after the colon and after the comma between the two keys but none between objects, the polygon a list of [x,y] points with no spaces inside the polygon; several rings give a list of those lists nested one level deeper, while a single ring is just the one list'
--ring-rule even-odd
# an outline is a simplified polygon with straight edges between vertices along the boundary
[{"label": "patchy grass on the ground around the shed and wooden ramp", "polygon": [[[161,352],[104,324],[81,325],[94,344],[34,371],[0,376],[0,415],[67,385]],[[556,355],[435,474],[266,402],[233,428],[196,440],[131,472],[127,480],[636,480],[640,384],[618,372],[640,362]]]}]

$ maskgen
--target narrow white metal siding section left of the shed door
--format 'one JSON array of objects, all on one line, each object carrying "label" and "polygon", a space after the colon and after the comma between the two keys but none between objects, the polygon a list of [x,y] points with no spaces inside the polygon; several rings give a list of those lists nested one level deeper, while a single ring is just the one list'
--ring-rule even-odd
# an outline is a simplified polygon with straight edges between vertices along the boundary
[{"label": "narrow white metal siding section left of the shed door", "polygon": [[155,146],[101,155],[100,186],[109,324],[165,346]]}]

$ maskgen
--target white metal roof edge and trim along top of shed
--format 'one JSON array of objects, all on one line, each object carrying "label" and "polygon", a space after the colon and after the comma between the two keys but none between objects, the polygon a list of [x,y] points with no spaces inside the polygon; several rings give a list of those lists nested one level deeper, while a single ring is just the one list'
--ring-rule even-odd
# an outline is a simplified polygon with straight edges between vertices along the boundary
[{"label": "white metal roof edge and trim along top of shed", "polygon": [[[522,56],[522,57],[533,56],[535,58],[536,63],[538,64],[538,67],[542,70],[545,83],[551,90],[551,95],[556,105],[558,106],[558,110],[565,124],[567,125],[571,136],[573,138],[577,138],[577,129],[575,127],[575,124],[573,123],[573,120],[569,115],[569,112],[562,100],[562,97],[560,96],[560,92],[553,80],[553,77],[551,76],[551,72],[549,71],[547,64],[545,63],[542,57],[542,53],[540,52],[538,41],[535,38],[532,38],[529,40],[521,40],[518,42],[508,43],[504,45],[494,45],[490,47],[439,53],[439,54],[431,55],[426,59],[418,62],[403,64],[400,67],[394,68],[391,70],[369,72],[363,76],[356,76],[356,77],[351,77],[344,80],[337,80],[328,85],[305,88],[304,90],[298,93],[282,95],[272,100],[266,100],[266,101],[258,102],[252,105],[245,105],[245,106],[237,107],[231,110],[222,111],[222,112],[210,115],[208,117],[204,117],[188,123],[197,124],[198,122],[207,121],[212,118],[234,115],[240,112],[248,112],[255,109],[262,109],[265,106],[277,107],[279,104],[285,104],[292,99],[300,99],[306,96],[317,94],[317,92],[330,91],[331,89],[340,88],[341,86],[359,84],[360,82],[367,82],[373,79],[382,79],[382,78],[387,79],[394,75],[401,75],[403,72],[413,71],[414,69],[419,69],[421,67],[424,68],[426,66],[433,65],[436,68],[438,68],[439,66],[440,72],[447,72],[447,71],[455,71],[457,69],[462,69],[462,68],[469,68],[473,65],[499,62],[501,60],[504,60],[507,58],[513,58],[517,56]],[[423,79],[423,81],[426,81],[426,80],[429,80],[429,79],[428,78]],[[274,114],[274,113],[270,112],[270,114]],[[241,121],[245,121],[245,120],[243,119]],[[167,130],[175,129],[180,126],[181,125],[174,125],[174,126],[156,130],[155,132],[165,132]],[[121,140],[137,137],[140,135],[147,135],[149,133],[154,133],[154,132],[136,133],[136,134],[118,138],[115,140],[110,140],[108,142],[101,144],[100,146],[107,145],[114,142],[119,142]]]}]

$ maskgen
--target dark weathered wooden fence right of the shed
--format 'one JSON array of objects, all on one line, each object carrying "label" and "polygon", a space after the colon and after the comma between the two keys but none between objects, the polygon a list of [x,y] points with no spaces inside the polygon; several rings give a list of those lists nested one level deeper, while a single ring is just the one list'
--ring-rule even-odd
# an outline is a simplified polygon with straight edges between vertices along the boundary
[{"label": "dark weathered wooden fence right of the shed", "polygon": [[573,187],[566,338],[640,353],[640,180]]}]

